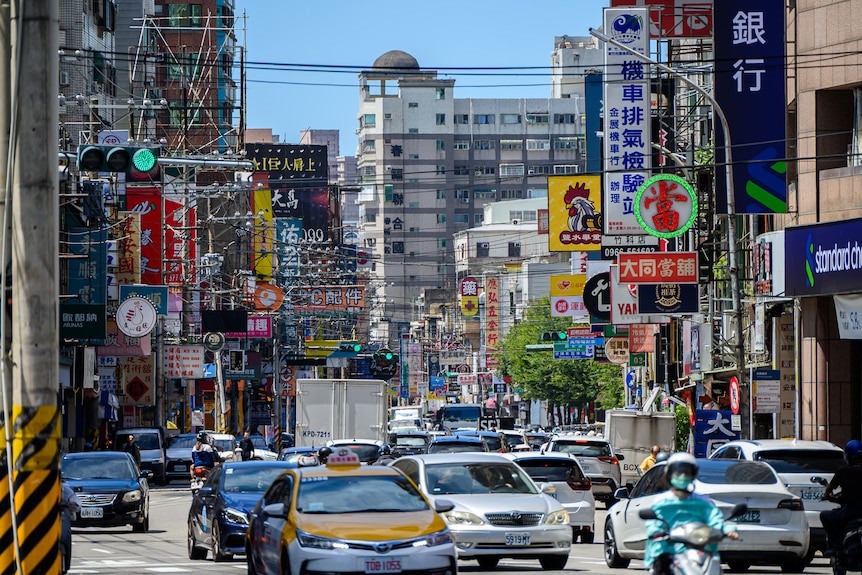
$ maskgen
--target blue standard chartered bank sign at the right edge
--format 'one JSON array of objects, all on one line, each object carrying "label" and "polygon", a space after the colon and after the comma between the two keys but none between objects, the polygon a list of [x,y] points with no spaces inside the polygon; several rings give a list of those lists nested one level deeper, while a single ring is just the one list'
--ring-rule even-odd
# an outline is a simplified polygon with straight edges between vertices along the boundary
[{"label": "blue standard chartered bank sign at the right edge", "polygon": [[862,219],[784,232],[788,296],[858,292],[862,287]]}]

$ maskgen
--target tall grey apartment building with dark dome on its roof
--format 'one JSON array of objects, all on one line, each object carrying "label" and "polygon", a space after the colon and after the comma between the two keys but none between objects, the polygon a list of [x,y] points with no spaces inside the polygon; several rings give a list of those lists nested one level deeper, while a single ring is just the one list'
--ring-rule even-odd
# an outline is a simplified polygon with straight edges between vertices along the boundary
[{"label": "tall grey apartment building with dark dome on its roof", "polygon": [[486,204],[547,197],[548,175],[583,170],[582,98],[456,98],[455,80],[398,50],[359,84],[360,243],[381,284],[369,338],[386,342],[414,319],[423,289],[454,293],[453,234],[481,224]]}]

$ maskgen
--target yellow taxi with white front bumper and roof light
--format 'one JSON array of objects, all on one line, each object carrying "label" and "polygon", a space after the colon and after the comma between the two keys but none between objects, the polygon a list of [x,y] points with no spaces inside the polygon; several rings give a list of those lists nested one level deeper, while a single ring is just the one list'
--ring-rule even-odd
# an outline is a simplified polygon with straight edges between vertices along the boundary
[{"label": "yellow taxi with white front bumper and roof light", "polygon": [[248,572],[457,575],[455,545],[428,499],[400,471],[335,448],[326,465],[288,469],[251,514]]}]

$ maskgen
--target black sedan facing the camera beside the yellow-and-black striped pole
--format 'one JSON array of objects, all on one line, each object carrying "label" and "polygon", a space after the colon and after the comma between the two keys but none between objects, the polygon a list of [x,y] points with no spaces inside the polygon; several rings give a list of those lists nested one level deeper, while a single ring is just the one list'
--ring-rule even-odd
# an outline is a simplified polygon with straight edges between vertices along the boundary
[{"label": "black sedan facing the camera beside the yellow-and-black striped pole", "polygon": [[74,527],[131,525],[136,533],[150,528],[152,472],[138,472],[132,456],[119,451],[67,453],[61,476],[81,501]]}]

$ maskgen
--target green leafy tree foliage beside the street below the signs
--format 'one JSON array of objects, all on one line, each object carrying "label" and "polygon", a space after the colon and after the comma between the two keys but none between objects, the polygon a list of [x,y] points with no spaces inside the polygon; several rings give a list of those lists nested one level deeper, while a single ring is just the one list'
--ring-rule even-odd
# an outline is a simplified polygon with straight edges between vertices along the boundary
[{"label": "green leafy tree foliage beside the street below the signs", "polygon": [[548,297],[537,300],[498,345],[498,370],[510,376],[512,387],[523,389],[527,399],[584,407],[599,398],[602,409],[619,407],[623,398],[619,366],[592,360],[554,360],[551,351],[526,351],[527,345],[543,343],[543,332],[564,331],[570,326],[569,318],[551,317]]}]

